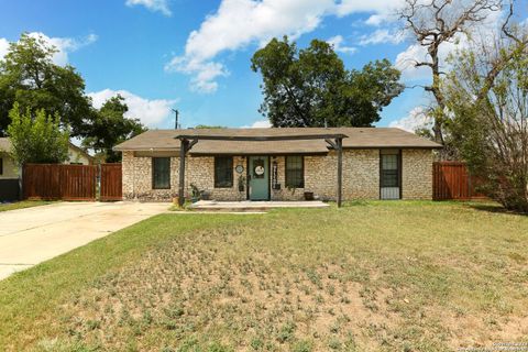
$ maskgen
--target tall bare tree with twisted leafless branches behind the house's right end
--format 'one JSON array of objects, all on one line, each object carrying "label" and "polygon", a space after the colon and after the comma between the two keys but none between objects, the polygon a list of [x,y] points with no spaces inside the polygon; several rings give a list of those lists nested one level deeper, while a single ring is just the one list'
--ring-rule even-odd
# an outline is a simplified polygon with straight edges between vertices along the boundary
[{"label": "tall bare tree with twisted leafless branches behind the house's right end", "polygon": [[425,87],[431,92],[436,106],[431,109],[435,141],[443,144],[442,127],[446,121],[447,101],[440,89],[442,62],[440,46],[470,34],[472,28],[502,8],[503,0],[405,0],[400,18],[416,42],[427,50],[428,57],[417,61],[416,67],[428,67],[432,81]]}]

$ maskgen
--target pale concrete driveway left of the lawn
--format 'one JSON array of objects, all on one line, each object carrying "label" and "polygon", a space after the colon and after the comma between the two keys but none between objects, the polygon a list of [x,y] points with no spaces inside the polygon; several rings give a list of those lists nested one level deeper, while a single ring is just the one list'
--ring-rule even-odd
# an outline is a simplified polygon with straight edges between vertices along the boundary
[{"label": "pale concrete driveway left of the lawn", "polygon": [[168,207],[166,202],[58,202],[0,212],[0,279]]}]

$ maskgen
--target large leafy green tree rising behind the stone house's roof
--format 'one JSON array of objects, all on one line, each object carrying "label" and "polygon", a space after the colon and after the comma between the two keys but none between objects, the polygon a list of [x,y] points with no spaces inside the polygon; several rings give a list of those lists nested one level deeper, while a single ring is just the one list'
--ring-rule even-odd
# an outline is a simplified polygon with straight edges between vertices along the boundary
[{"label": "large leafy green tree rising behind the stone house's roof", "polygon": [[263,76],[260,112],[274,127],[371,127],[404,89],[400,73],[386,59],[346,70],[327,42],[273,38],[252,57]]}]

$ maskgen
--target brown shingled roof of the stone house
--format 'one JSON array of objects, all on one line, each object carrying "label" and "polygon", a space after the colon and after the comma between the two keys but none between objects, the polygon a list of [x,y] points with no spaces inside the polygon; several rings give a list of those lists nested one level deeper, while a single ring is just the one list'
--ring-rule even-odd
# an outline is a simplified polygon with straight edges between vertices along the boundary
[{"label": "brown shingled roof of the stone house", "polygon": [[[283,129],[188,129],[188,130],[150,130],[114,147],[116,151],[177,151],[180,142],[178,135],[265,138],[296,136],[310,134],[344,134],[345,148],[439,148],[440,144],[426,140],[414,133],[393,128],[283,128]],[[292,141],[210,141],[200,140],[190,154],[302,154],[328,153],[323,140]]]}]

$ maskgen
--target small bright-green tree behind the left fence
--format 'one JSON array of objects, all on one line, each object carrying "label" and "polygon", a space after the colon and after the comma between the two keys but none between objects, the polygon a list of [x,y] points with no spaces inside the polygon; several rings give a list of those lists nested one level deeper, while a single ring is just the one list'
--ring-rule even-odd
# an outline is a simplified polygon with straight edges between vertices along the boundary
[{"label": "small bright-green tree behind the left fence", "polygon": [[15,102],[9,118],[10,154],[18,165],[62,163],[68,158],[69,133],[61,128],[57,113],[46,116],[41,109],[32,114],[29,108],[24,111]]}]

